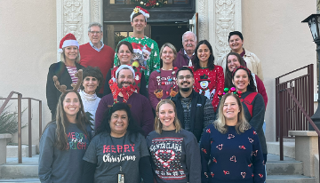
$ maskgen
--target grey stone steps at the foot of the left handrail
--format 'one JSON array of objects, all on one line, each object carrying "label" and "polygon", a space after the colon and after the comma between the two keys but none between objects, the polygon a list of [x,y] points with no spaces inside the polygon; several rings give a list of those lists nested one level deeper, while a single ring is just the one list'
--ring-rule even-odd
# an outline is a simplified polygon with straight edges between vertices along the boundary
[{"label": "grey stone steps at the foot of the left handrail", "polygon": [[22,157],[22,163],[18,163],[18,158],[7,158],[7,163],[0,165],[0,178],[37,178],[38,159],[39,155],[33,155],[33,157]]}]

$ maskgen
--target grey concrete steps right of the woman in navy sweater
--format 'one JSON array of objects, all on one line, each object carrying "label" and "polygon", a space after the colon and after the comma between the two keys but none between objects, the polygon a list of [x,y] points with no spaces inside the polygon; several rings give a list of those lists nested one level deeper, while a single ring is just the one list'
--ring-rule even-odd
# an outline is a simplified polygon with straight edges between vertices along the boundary
[{"label": "grey concrete steps right of the woman in navy sweater", "polygon": [[315,178],[303,175],[302,162],[291,157],[280,161],[279,155],[268,154],[267,183],[316,183]]}]

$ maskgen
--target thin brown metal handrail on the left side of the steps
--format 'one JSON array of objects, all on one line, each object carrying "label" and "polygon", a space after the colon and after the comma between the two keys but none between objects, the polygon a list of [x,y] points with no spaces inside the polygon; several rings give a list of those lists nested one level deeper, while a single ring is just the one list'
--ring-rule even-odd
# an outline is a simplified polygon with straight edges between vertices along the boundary
[{"label": "thin brown metal handrail on the left side of the steps", "polygon": [[[13,94],[18,94],[18,98],[12,98]],[[28,157],[32,157],[32,114],[31,114],[31,100],[39,102],[39,138],[42,134],[42,100],[33,98],[22,98],[20,92],[11,91],[7,98],[3,98],[4,104],[0,107],[0,114],[4,111],[5,106],[8,104],[10,99],[18,99],[18,163],[22,163],[22,142],[21,142],[21,101],[22,99],[28,99]]]}]

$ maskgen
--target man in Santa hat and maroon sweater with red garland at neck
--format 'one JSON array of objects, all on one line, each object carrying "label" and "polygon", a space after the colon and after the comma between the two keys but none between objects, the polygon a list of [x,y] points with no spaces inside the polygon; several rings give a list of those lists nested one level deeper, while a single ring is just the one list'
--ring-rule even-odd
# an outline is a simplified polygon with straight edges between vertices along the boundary
[{"label": "man in Santa hat and maroon sweater with red garland at neck", "polygon": [[108,81],[110,84],[111,93],[104,96],[99,103],[95,116],[95,130],[99,131],[100,125],[108,123],[103,121],[105,112],[108,111],[108,107],[112,107],[114,103],[124,102],[131,106],[132,116],[136,123],[140,125],[145,132],[145,136],[154,129],[154,115],[152,113],[152,107],[148,99],[134,92],[134,70],[131,66],[121,65],[116,69],[116,81]]}]

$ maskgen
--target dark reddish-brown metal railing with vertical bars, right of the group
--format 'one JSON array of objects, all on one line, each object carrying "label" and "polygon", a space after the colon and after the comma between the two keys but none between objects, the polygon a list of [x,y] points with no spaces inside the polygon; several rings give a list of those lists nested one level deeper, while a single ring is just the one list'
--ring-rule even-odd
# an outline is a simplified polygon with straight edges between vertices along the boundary
[{"label": "dark reddish-brown metal railing with vertical bars, right of the group", "polygon": [[[284,76],[308,70],[303,76],[280,84]],[[308,123],[316,126],[309,116],[314,114],[313,64],[276,78],[276,140],[280,140],[280,160],[284,160],[284,138],[289,131],[308,131]],[[317,128],[315,128],[317,129]],[[318,134],[320,131],[317,129]],[[319,141],[320,143],[320,141]],[[320,152],[320,151],[319,151]]]}]

